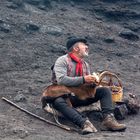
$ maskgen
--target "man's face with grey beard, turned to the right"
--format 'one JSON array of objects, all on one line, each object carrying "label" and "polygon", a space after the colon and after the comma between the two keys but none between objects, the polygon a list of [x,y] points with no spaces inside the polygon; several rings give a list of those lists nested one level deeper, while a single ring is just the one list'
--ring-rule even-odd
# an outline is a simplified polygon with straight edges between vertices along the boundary
[{"label": "man's face with grey beard, turned to the right", "polygon": [[81,58],[88,56],[89,48],[85,43],[78,42],[78,43],[76,43],[76,47],[78,50],[77,53]]}]

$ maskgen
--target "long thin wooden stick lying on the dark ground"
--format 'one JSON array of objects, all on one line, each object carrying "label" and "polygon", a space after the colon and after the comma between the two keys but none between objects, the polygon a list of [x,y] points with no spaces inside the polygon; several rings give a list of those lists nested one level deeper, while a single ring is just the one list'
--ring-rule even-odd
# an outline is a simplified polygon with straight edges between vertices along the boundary
[{"label": "long thin wooden stick lying on the dark ground", "polygon": [[12,106],[18,108],[19,110],[21,110],[21,111],[23,111],[23,112],[25,112],[25,113],[27,113],[27,114],[29,114],[29,115],[31,115],[31,116],[33,116],[33,117],[39,119],[39,120],[41,120],[41,121],[44,121],[44,122],[46,122],[46,123],[48,123],[48,124],[57,126],[57,127],[62,128],[62,129],[64,129],[64,130],[67,130],[67,131],[78,131],[78,130],[76,130],[75,128],[69,128],[69,127],[66,127],[66,126],[60,126],[60,125],[58,125],[57,123],[54,123],[54,122],[49,121],[49,120],[46,120],[46,119],[44,119],[44,118],[42,118],[42,117],[40,117],[40,116],[38,116],[38,115],[36,115],[36,114],[30,112],[30,111],[28,111],[28,110],[26,110],[26,109],[24,109],[24,108],[18,106],[17,104],[15,104],[14,102],[12,102],[12,101],[6,99],[5,97],[2,97],[2,100],[6,101],[7,103],[11,104]]}]

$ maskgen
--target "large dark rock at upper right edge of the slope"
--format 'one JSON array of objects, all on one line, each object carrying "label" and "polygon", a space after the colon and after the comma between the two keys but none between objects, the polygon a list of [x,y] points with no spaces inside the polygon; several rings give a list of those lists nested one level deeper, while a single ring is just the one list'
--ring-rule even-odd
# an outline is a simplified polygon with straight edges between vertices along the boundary
[{"label": "large dark rock at upper right edge of the slope", "polygon": [[123,30],[119,33],[119,36],[124,39],[132,40],[132,41],[139,40],[139,36],[136,33],[132,32],[131,30]]}]

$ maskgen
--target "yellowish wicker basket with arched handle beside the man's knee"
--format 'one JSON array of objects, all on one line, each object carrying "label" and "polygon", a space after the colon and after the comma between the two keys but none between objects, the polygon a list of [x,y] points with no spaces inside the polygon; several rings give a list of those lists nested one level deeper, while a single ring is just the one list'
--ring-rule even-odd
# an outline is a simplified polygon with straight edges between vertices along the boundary
[{"label": "yellowish wicker basket with arched handle beside the man's knee", "polygon": [[109,87],[112,91],[113,102],[120,102],[123,98],[123,87],[118,76],[109,71],[104,71],[100,74],[99,79],[101,86]]}]

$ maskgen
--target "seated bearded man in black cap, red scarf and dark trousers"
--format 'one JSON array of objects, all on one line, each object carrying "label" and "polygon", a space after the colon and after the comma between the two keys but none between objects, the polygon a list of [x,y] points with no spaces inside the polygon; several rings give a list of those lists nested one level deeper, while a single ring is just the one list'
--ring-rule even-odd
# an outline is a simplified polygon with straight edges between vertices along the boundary
[{"label": "seated bearded man in black cap, red scarf and dark trousers", "polygon": [[[98,83],[96,77],[90,74],[88,63],[84,61],[84,58],[89,53],[87,40],[83,38],[70,38],[67,41],[66,47],[68,53],[59,57],[55,62],[53,82],[65,86]],[[73,107],[67,104],[66,98],[70,98]],[[74,124],[78,125],[82,129],[83,134],[87,134],[97,132],[97,129],[75,107],[86,106],[97,101],[101,102],[104,118],[102,124],[109,130],[125,130],[125,124],[119,124],[114,118],[111,92],[105,87],[97,88],[95,97],[86,100],[80,100],[78,97],[72,95],[58,97],[53,102],[53,107]]]}]

